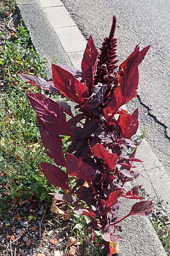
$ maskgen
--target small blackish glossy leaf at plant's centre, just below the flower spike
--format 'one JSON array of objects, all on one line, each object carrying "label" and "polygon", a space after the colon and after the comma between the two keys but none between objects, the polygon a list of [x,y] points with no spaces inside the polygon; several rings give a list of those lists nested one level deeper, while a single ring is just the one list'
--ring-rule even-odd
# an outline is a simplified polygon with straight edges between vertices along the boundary
[{"label": "small blackish glossy leaf at plant's centre, just below the flower spike", "polygon": [[92,88],[92,94],[84,104],[84,108],[94,109],[103,101],[107,85],[98,83]]}]

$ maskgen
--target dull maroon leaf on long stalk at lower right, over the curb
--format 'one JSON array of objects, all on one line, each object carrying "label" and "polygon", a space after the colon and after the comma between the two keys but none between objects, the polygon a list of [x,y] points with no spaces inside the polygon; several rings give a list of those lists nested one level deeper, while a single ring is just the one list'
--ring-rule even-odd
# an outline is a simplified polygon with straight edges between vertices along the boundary
[{"label": "dull maroon leaf on long stalk at lower right, over the curb", "polygon": [[146,216],[149,215],[152,210],[154,209],[154,204],[151,201],[141,201],[133,205],[131,207],[130,215],[141,215],[141,216]]}]

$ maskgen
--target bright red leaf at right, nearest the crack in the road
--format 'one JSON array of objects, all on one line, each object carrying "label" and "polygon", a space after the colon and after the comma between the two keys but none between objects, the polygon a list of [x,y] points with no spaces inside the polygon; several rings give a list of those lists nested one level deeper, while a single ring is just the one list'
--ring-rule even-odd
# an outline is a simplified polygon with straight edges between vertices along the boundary
[{"label": "bright red leaf at right, nearest the crack in the road", "polygon": [[138,122],[138,109],[133,114],[120,113],[118,117],[118,125],[121,128],[122,137],[131,138],[137,133],[139,122]]}]

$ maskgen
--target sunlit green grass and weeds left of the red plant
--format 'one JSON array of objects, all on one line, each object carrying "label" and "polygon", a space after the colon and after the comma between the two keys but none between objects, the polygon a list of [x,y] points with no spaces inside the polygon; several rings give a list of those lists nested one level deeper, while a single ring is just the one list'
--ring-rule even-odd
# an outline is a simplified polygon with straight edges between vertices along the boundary
[{"label": "sunlit green grass and weeds left of the red plant", "polygon": [[[3,1],[1,7],[13,10],[14,1]],[[10,5],[11,9],[10,9]],[[28,31],[20,22],[12,38],[3,35],[0,65],[3,90],[0,93],[0,184],[1,191],[14,199],[36,196],[49,200],[52,186],[40,171],[47,160],[42,146],[36,114],[25,93],[29,86],[20,81],[18,73],[28,72],[46,78],[44,60],[33,49]],[[37,88],[33,89],[37,92]],[[5,174],[5,175],[4,175]],[[6,184],[6,187],[4,186]]]}]

